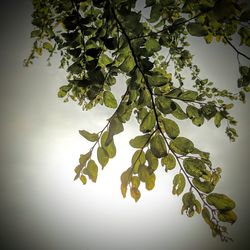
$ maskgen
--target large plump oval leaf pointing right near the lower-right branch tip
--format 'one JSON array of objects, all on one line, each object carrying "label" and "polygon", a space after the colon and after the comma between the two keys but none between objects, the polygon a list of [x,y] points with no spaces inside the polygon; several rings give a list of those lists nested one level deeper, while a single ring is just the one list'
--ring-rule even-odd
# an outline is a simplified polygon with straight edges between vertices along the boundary
[{"label": "large plump oval leaf pointing right near the lower-right branch tip", "polygon": [[209,205],[222,211],[228,211],[235,208],[235,202],[224,194],[212,193],[206,197]]}]

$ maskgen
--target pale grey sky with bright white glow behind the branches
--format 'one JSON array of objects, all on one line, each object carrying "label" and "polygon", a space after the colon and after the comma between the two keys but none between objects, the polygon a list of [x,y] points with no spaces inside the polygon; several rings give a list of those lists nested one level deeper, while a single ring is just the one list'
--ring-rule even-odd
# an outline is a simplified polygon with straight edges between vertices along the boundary
[{"label": "pale grey sky with bright white glow behind the branches", "polygon": [[[214,166],[223,169],[217,192],[237,202],[239,218],[229,226],[235,241],[226,244],[212,238],[200,216],[189,219],[180,214],[181,198],[171,193],[174,172],[157,171],[155,189],[142,192],[138,203],[122,198],[120,174],[130,165],[133,151],[128,141],[138,131],[134,121],[116,137],[117,156],[100,171],[97,184],[73,181],[79,155],[91,146],[78,130],[99,131],[111,110],[83,112],[58,99],[65,72],[58,69],[57,59],[52,67],[45,59],[22,67],[32,45],[31,13],[28,0],[1,4],[0,248],[243,249],[250,231],[249,101],[233,112],[239,121],[236,143],[229,142],[224,126],[216,129],[212,121],[201,128],[185,123],[181,132],[210,151]],[[236,90],[237,60],[230,48],[194,39],[192,51],[204,77]]]}]

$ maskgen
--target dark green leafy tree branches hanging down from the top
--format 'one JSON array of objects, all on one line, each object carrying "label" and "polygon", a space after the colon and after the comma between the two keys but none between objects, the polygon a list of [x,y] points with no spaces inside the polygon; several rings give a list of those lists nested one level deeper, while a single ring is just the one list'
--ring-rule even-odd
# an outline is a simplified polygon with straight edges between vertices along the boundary
[{"label": "dark green leafy tree branches hanging down from the top", "polygon": [[[114,109],[98,133],[80,130],[93,145],[80,155],[75,179],[96,182],[102,168],[116,155],[115,135],[135,115],[141,134],[129,143],[135,148],[131,166],[121,174],[121,192],[129,188],[135,201],[140,184],[152,190],[156,170],[162,166],[177,171],[173,194],[182,195],[182,213],[201,214],[222,241],[231,240],[224,223],[233,224],[235,202],[214,192],[221,168],[212,167],[209,153],[180,135],[178,120],[202,126],[213,119],[216,127],[226,121],[226,134],[235,141],[237,121],[230,115],[233,102],[245,102],[250,90],[250,68],[241,59],[250,57],[238,50],[250,46],[250,10],[238,0],[33,0],[32,24],[35,39],[25,65],[49,53],[60,52],[60,67],[67,70],[67,85],[58,97],[78,102],[84,110],[97,104]],[[147,16],[148,15],[148,16]],[[214,40],[236,52],[240,78],[238,93],[220,90],[199,76],[188,50],[189,36],[210,44]],[[188,74],[185,73],[188,71]],[[118,102],[111,87],[117,76],[126,76],[126,91]],[[192,81],[189,87],[187,82]],[[96,154],[97,160],[91,158]]]}]

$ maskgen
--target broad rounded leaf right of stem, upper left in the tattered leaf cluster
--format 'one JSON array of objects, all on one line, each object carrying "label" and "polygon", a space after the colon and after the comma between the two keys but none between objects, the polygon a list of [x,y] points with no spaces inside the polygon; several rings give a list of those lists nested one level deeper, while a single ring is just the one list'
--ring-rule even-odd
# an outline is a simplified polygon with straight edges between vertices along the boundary
[{"label": "broad rounded leaf right of stem, upper left in the tattered leaf cluster", "polygon": [[186,158],[183,166],[187,173],[193,177],[201,177],[206,169],[205,164],[197,158]]}]

